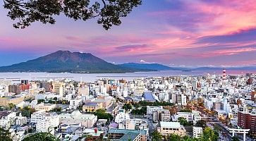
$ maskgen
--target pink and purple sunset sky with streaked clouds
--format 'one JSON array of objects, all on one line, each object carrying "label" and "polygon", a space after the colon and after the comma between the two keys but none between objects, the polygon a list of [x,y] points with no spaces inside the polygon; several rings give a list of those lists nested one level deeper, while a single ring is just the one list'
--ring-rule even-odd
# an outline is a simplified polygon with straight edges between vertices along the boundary
[{"label": "pink and purple sunset sky with streaked clouds", "polygon": [[7,12],[0,8],[0,66],[58,50],[89,52],[116,64],[256,64],[255,0],[143,0],[111,30],[96,20],[65,16],[56,16],[55,25],[32,23],[20,30]]}]

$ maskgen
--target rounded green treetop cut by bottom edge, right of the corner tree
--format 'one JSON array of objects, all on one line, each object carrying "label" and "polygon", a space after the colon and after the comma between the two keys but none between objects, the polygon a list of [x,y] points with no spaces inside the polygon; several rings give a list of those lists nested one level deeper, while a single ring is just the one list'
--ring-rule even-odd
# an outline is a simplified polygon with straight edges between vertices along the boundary
[{"label": "rounded green treetop cut by bottom edge, right of the corner tree", "polygon": [[51,135],[51,133],[36,133],[36,134],[28,135],[23,139],[23,141],[31,141],[31,140],[57,141],[58,139],[54,135]]}]

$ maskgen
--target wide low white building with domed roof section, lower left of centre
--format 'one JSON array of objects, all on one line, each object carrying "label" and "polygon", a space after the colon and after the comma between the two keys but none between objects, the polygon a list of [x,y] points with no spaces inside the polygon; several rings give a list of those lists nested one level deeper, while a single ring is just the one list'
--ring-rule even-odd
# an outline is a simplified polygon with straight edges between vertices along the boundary
[{"label": "wide low white building with domed roof section, lower left of centre", "polygon": [[71,114],[60,114],[59,120],[63,124],[82,124],[85,128],[92,128],[97,122],[97,116],[93,114],[81,114],[80,111],[73,111]]}]

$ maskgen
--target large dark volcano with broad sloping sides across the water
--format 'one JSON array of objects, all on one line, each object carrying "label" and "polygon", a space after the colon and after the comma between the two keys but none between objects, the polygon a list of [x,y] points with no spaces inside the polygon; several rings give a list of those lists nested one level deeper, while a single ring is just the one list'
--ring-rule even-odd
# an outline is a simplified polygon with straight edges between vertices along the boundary
[{"label": "large dark volcano with broad sloping sides across the water", "polygon": [[126,73],[138,71],[108,63],[90,53],[59,50],[12,66],[0,67],[0,72],[71,72],[71,73]]}]

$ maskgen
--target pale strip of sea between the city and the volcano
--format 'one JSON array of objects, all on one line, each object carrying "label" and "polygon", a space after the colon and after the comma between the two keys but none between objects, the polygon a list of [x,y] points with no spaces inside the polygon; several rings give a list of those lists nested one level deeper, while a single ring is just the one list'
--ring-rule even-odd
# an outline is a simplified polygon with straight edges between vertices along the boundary
[{"label": "pale strip of sea between the city and the volcano", "polygon": [[[0,80],[60,80],[69,79],[83,82],[95,82],[104,78],[114,80],[134,80],[136,78],[168,77],[181,75],[221,75],[222,70],[208,71],[151,71],[135,73],[0,73]],[[256,71],[226,71],[227,75],[245,75],[246,73],[256,73]]]}]

